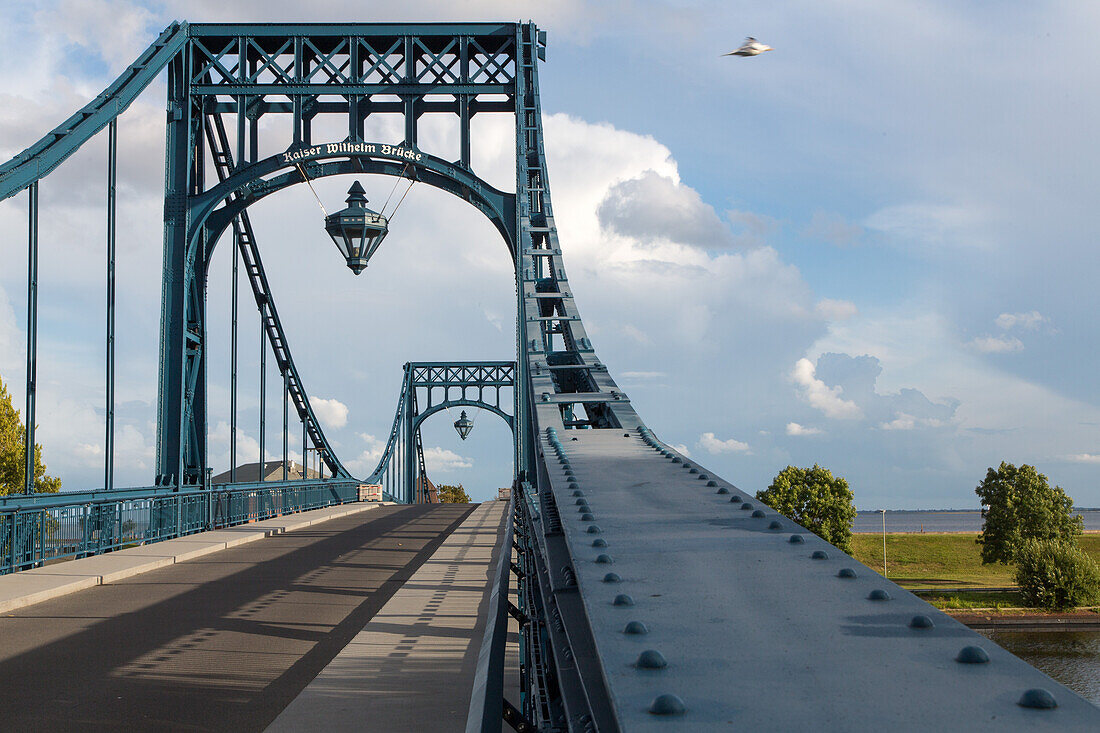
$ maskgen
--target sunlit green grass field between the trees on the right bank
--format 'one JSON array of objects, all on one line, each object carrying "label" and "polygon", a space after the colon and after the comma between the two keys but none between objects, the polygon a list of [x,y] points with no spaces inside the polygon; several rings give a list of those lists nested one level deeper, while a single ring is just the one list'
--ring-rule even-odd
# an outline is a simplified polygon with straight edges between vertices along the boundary
[{"label": "sunlit green grass field between the trees on the right bank", "polygon": [[[887,571],[904,588],[1004,588],[1015,586],[1014,569],[982,565],[977,533],[887,534]],[[1100,534],[1084,535],[1081,549],[1100,562]],[[882,572],[882,535],[853,535],[853,555]]]}]

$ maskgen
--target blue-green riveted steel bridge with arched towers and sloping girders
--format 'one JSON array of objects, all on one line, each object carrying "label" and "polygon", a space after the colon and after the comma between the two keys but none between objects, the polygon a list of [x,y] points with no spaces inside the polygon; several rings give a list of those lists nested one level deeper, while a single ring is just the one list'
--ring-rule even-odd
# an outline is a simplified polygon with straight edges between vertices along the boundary
[{"label": "blue-green riveted steel bridge with arched towers and sloping girders", "polygon": [[[3,571],[34,572],[64,557],[352,503],[363,483],[381,484],[387,500],[422,503],[419,427],[463,406],[508,423],[515,461],[513,521],[498,538],[466,730],[501,730],[502,721],[527,731],[1096,730],[1100,711],[1077,694],[756,505],[641,420],[597,357],[566,275],[542,134],[544,48],[546,34],[532,23],[173,23],[88,106],[0,166],[0,199],[29,200],[24,416],[33,446],[38,187],[107,129],[105,485],[35,494],[29,450],[26,492],[0,500]],[[118,490],[117,119],[162,73],[156,463],[151,486]],[[376,113],[402,114],[404,139],[365,139],[365,121]],[[440,114],[459,122],[452,160],[417,144],[418,121]],[[471,165],[475,114],[515,120],[512,192]],[[275,135],[261,121],[273,116],[289,121],[279,128],[289,134],[264,139],[264,150],[279,152],[261,156],[262,135]],[[341,120],[345,134],[316,139],[319,117]],[[337,175],[404,177],[468,201],[499,232],[516,285],[515,361],[407,364],[383,457],[362,480],[341,462],[310,406],[249,218],[268,196]],[[284,469],[282,481],[209,479],[207,273],[222,240],[232,242],[233,263],[231,433],[243,266],[264,353],[283,380],[284,467],[290,404],[319,478],[294,481]],[[230,446],[235,450],[232,438]],[[520,628],[520,686],[512,698],[503,687],[509,619]]]}]

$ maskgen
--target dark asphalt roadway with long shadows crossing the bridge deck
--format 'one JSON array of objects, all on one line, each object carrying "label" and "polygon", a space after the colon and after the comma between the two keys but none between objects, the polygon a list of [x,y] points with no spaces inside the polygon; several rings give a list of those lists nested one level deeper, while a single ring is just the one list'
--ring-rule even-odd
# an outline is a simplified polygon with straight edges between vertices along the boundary
[{"label": "dark asphalt roadway with long shadows crossing the bridge deck", "polygon": [[0,615],[0,729],[262,731],[471,508],[380,506]]}]

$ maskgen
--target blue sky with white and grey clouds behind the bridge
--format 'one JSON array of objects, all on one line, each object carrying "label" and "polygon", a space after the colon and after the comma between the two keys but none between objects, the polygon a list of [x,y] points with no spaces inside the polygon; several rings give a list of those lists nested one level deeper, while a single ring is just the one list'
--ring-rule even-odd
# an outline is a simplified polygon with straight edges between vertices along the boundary
[{"label": "blue sky with white and grey clouds behind the bridge", "polygon": [[[578,304],[659,436],[749,491],[788,463],[818,462],[848,478],[860,508],[975,506],[974,486],[1001,460],[1034,463],[1079,505],[1100,505],[1100,10],[546,4],[20,6],[0,26],[19,52],[0,58],[0,154],[98,94],[173,19],[531,18],[549,32],[546,135]],[[776,51],[719,57],[750,34]],[[133,485],[151,478],[155,423],[163,105],[158,83],[120,122],[118,473]],[[475,169],[510,187],[509,124],[475,120]],[[286,141],[272,124],[274,152]],[[395,121],[372,124],[380,141],[399,138]],[[451,127],[425,122],[422,134],[428,152],[455,156]],[[101,480],[105,145],[42,187],[40,435],[66,488]],[[349,184],[318,192],[339,205]],[[364,185],[384,198],[392,183]],[[417,187],[355,278],[318,214],[292,189],[253,221],[307,385],[329,401],[322,419],[342,457],[366,473],[405,361],[510,358],[510,265],[479,215]],[[24,198],[0,204],[0,374],[21,403]],[[222,337],[228,252],[209,305]],[[211,352],[216,461],[228,455],[226,341]],[[255,452],[257,351],[251,325],[243,456]],[[436,480],[475,497],[508,482],[509,436],[491,415],[465,442],[443,417],[425,437]]]}]

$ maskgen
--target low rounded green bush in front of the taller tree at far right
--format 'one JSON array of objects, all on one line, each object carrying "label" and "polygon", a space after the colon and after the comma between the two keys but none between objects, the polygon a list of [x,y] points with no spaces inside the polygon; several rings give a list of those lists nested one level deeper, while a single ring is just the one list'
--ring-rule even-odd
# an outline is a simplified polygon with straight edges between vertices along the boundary
[{"label": "low rounded green bush in front of the taller tree at far right", "polygon": [[1016,549],[1016,583],[1024,603],[1066,611],[1100,600],[1100,568],[1068,539],[1024,539]]}]

